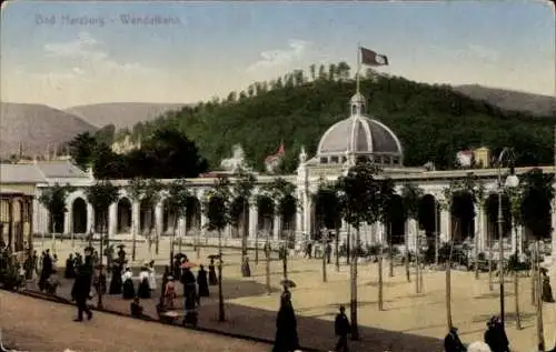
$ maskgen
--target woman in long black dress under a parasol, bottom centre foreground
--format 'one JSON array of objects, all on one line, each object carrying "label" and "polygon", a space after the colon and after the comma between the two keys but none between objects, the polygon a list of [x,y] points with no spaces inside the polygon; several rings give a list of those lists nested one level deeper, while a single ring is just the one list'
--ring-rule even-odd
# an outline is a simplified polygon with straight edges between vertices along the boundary
[{"label": "woman in long black dress under a parasol, bottom centre foreground", "polygon": [[294,352],[299,349],[297,319],[291,305],[291,295],[284,291],[280,298],[280,310],[276,318],[276,338],[272,352]]}]

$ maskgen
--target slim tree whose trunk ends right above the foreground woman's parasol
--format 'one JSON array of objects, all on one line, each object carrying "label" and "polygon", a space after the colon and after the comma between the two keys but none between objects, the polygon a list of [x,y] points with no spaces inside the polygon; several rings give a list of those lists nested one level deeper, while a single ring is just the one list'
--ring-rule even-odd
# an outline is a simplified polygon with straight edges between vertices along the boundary
[{"label": "slim tree whose trunk ends right above the foreground woman's parasol", "polygon": [[[297,199],[296,194],[296,185],[289,181],[286,181],[282,178],[275,179],[269,185],[269,195],[275,203],[274,213],[280,215],[282,221],[287,221],[286,225],[289,228],[290,221],[295,219],[297,213]],[[280,229],[280,232],[284,234],[284,229]],[[282,257],[282,266],[284,266],[284,280],[288,279],[288,252],[289,252],[289,242],[290,235],[286,234],[285,237],[285,248],[281,253]]]}]

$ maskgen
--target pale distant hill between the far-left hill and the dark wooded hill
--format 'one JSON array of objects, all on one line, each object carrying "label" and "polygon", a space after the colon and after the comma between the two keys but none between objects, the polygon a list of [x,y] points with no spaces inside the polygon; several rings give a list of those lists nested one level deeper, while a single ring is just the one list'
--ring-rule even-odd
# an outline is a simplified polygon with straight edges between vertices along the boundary
[{"label": "pale distant hill between the far-left hill and the dark wooded hill", "polygon": [[118,130],[132,128],[138,122],[153,120],[168,110],[179,110],[185,105],[187,104],[112,102],[73,107],[66,109],[66,111],[98,128],[112,123]]}]

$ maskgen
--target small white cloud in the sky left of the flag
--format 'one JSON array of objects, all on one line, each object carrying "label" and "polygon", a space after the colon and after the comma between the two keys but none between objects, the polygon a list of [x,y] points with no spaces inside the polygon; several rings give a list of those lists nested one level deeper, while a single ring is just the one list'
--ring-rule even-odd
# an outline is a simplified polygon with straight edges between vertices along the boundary
[{"label": "small white cloud in the sky left of the flag", "polygon": [[277,68],[291,64],[292,62],[301,59],[309,47],[309,42],[299,39],[290,39],[287,49],[276,49],[262,51],[260,53],[261,60],[251,63],[247,71],[252,72],[260,69]]}]

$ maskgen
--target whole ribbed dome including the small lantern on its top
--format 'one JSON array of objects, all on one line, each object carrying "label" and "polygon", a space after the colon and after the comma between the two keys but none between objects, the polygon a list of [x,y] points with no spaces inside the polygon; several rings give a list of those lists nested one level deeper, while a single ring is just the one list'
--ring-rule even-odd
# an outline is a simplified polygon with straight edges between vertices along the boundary
[{"label": "whole ribbed dome including the small lantern on its top", "polygon": [[318,144],[320,163],[340,163],[347,154],[366,157],[378,164],[401,164],[403,148],[396,134],[384,123],[364,114],[365,97],[355,94],[351,115],[330,127]]}]

